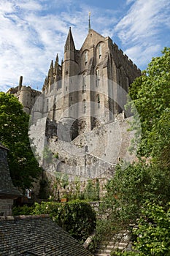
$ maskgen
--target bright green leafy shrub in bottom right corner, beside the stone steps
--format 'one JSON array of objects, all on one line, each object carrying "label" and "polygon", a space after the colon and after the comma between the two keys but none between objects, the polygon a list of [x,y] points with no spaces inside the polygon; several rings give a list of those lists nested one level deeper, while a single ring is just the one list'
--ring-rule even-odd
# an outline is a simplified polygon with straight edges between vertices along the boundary
[{"label": "bright green leafy shrub in bottom right corner, beside the stone steps", "polygon": [[147,203],[138,226],[134,228],[136,236],[132,252],[117,252],[113,255],[122,256],[169,256],[170,255],[170,207]]}]

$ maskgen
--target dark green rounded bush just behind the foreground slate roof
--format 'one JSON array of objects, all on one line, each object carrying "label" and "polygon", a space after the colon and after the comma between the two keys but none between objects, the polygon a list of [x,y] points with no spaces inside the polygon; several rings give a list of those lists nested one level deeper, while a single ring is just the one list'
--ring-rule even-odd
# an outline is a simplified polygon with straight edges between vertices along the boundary
[{"label": "dark green rounded bush just behind the foreground slate roof", "polygon": [[36,203],[34,214],[50,214],[50,217],[72,237],[83,243],[96,227],[96,213],[90,204],[74,200],[68,203]]}]

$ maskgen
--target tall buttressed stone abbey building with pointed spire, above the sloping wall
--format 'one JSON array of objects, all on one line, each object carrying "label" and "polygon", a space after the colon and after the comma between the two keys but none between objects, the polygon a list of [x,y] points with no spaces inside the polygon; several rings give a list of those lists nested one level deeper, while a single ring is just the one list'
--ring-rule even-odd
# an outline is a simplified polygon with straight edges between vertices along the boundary
[{"label": "tall buttressed stone abbey building with pointed spire, above the sloping wall", "polygon": [[[125,111],[126,94],[134,79],[141,75],[135,64],[109,37],[93,29],[80,50],[74,45],[72,30],[64,46],[64,59],[51,61],[42,87],[43,108],[36,116],[47,116],[68,130],[70,140],[82,132],[107,124]],[[39,109],[39,107],[38,107]],[[66,136],[65,136],[66,137]],[[69,140],[69,138],[65,138]]]}]

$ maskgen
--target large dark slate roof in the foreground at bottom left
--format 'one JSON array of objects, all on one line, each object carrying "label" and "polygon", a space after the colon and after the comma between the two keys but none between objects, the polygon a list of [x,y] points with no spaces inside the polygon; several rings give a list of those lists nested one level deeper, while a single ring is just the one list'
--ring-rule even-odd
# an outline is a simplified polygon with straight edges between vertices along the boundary
[{"label": "large dark slate roof in the foreground at bottom left", "polygon": [[48,215],[1,217],[1,256],[93,256]]}]

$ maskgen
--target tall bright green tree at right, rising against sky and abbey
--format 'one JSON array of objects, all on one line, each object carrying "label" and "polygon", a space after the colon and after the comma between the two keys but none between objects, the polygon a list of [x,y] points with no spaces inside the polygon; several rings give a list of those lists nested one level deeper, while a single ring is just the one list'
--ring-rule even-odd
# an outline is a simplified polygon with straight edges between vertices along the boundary
[{"label": "tall bright green tree at right, rising against sky and abbey", "polygon": [[[141,121],[139,155],[152,157],[157,164],[169,167],[170,48],[164,48],[162,53],[162,56],[152,58],[145,75],[131,85],[128,107],[137,109],[134,118],[136,121],[140,117]],[[138,133],[136,135],[138,137]]]}]

